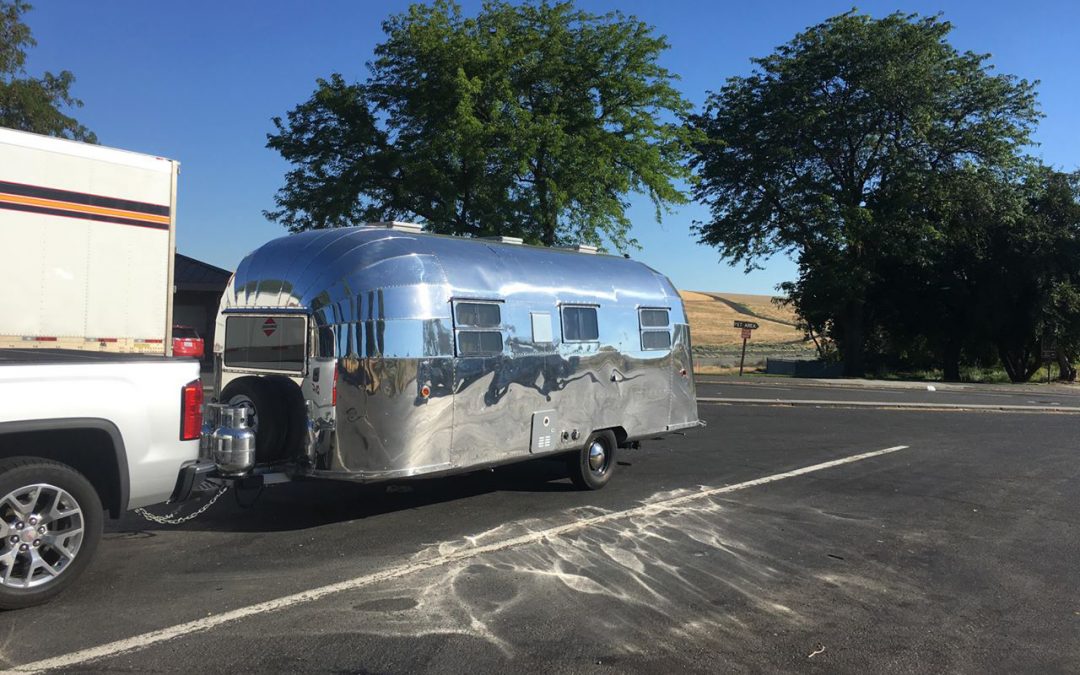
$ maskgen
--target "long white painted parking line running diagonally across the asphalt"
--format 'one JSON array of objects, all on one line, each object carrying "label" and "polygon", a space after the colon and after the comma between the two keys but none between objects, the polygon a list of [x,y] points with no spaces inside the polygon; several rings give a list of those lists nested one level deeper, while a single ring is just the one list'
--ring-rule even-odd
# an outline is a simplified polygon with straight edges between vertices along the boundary
[{"label": "long white painted parking line running diagonally across the asphalt", "polygon": [[502,541],[496,541],[489,544],[484,544],[469,549],[460,549],[457,551],[453,551],[450,553],[441,554],[423,561],[414,561],[409,563],[404,563],[395,567],[390,567],[388,569],[383,569],[377,572],[372,572],[369,575],[364,575],[362,577],[356,577],[354,579],[349,579],[347,581],[340,581],[338,583],[332,583],[324,586],[319,586],[318,589],[311,589],[310,591],[302,591],[300,593],[286,595],[284,597],[279,597],[264,603],[257,603],[255,605],[241,607],[239,609],[233,609],[219,615],[205,617],[203,619],[188,621],[187,623],[179,623],[158,631],[151,631],[149,633],[136,635],[134,637],[117,640],[114,643],[108,643],[105,645],[99,645],[97,647],[82,649],[80,651],[72,651],[70,653],[66,653],[59,657],[53,657],[51,659],[35,661],[32,663],[16,665],[11,671],[6,672],[39,673],[42,671],[49,671],[53,669],[72,667],[84,663],[89,663],[91,661],[105,659],[107,657],[114,657],[121,653],[145,649],[147,647],[150,647],[151,645],[157,645],[167,640],[176,639],[178,637],[185,637],[187,635],[202,633],[204,631],[208,631],[211,629],[217,627],[225,623],[230,623],[232,621],[239,621],[241,619],[246,619],[248,617],[255,617],[258,615],[265,615],[268,612],[278,611],[280,609],[285,609],[287,607],[293,607],[295,605],[300,605],[303,603],[311,603],[320,598],[326,597],[328,595],[334,595],[336,593],[354,591],[356,589],[369,586],[380,581],[399,579],[401,577],[405,577],[414,572],[422,571],[426,569],[432,569],[435,567],[442,567],[450,563],[473,558],[480,555],[484,555],[485,553],[491,553],[504,549],[512,549],[514,546],[521,546],[537,541],[541,541],[544,539],[550,539],[553,537],[561,537],[581,529],[595,527],[597,525],[603,525],[605,523],[610,523],[612,521],[619,521],[629,517],[653,515],[657,513],[661,513],[680,507],[687,502],[694,501],[698,499],[704,499],[707,497],[714,497],[716,495],[725,495],[727,492],[744,490],[750,487],[766,485],[768,483],[775,483],[777,481],[784,481],[786,478],[794,478],[796,476],[806,475],[808,473],[814,473],[815,471],[824,471],[825,469],[832,469],[834,467],[840,467],[842,464],[850,464],[852,462],[863,461],[864,459],[870,459],[874,457],[880,457],[882,455],[889,455],[890,453],[903,450],[906,449],[907,447],[908,446],[906,445],[897,445],[894,447],[885,448],[883,450],[874,450],[872,453],[863,453],[861,455],[851,455],[848,457],[842,457],[840,459],[834,459],[827,462],[821,462],[820,464],[811,464],[809,467],[802,467],[801,469],[785,471],[783,473],[775,473],[769,476],[754,478],[753,481],[746,481],[744,483],[735,483],[733,485],[725,485],[723,487],[702,488],[699,491],[691,492],[689,495],[672,497],[670,499],[664,499],[653,503],[643,504],[640,507],[635,507],[633,509],[627,509],[624,511],[613,511],[611,513],[605,513],[603,515],[582,518],[579,521],[573,521],[572,523],[567,523],[565,525],[558,525],[556,527],[551,527],[549,529],[539,530],[536,532],[529,532],[527,535],[522,535],[518,537],[511,537],[509,539],[504,539]]}]

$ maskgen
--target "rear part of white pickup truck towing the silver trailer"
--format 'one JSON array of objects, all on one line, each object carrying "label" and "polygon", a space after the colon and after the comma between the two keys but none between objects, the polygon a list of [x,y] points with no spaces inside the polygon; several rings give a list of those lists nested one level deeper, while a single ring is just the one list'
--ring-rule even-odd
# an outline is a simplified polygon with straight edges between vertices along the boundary
[{"label": "rear part of white pickup truck towing the silver trailer", "polygon": [[86,568],[104,512],[184,499],[198,462],[199,363],[0,350],[0,609],[45,602]]}]

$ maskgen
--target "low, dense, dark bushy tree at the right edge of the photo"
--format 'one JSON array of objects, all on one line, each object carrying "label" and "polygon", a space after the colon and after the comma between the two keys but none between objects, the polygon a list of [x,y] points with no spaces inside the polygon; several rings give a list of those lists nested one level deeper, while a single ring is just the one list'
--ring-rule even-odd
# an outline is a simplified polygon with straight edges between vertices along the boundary
[{"label": "low, dense, dark bushy tree at the right edge of the photo", "polygon": [[[929,177],[905,206],[903,256],[880,259],[868,293],[874,332],[893,364],[941,365],[946,380],[964,363],[1000,362],[1027,381],[1043,348],[1062,373],[1080,347],[1080,186],[1034,162],[999,172],[968,167]],[[900,218],[901,215],[895,216]],[[811,298],[812,305],[813,298]]]}]

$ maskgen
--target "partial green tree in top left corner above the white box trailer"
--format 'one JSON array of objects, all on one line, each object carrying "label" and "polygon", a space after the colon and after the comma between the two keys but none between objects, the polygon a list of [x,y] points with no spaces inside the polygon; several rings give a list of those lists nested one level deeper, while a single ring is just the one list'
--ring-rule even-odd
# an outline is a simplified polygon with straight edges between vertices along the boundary
[{"label": "partial green tree in top left corner above the white box trailer", "polygon": [[75,76],[69,70],[26,75],[26,51],[37,44],[23,15],[31,9],[24,0],[0,0],[0,126],[97,143],[97,137],[68,108],[81,108],[71,96]]}]

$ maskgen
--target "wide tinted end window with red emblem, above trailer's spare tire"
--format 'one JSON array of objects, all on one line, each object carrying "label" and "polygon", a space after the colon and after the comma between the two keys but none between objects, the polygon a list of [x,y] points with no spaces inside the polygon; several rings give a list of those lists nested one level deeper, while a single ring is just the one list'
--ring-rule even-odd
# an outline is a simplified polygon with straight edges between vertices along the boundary
[{"label": "wide tinted end window with red emblem, above trailer's spare tire", "polygon": [[302,373],[307,326],[303,316],[229,316],[225,324],[225,365]]}]

